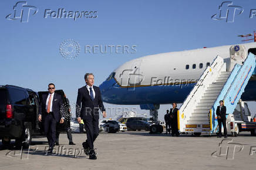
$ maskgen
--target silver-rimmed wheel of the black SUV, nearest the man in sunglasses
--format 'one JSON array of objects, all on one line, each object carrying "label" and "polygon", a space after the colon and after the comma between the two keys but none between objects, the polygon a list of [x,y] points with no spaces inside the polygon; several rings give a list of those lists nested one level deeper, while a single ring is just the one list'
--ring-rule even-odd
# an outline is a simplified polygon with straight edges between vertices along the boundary
[{"label": "silver-rimmed wheel of the black SUV, nearest the man in sunglasses", "polygon": [[24,148],[28,148],[29,145],[31,145],[31,140],[32,140],[31,123],[25,123],[22,135],[21,135],[21,137],[16,138],[15,145],[16,145],[16,147],[23,146]]}]

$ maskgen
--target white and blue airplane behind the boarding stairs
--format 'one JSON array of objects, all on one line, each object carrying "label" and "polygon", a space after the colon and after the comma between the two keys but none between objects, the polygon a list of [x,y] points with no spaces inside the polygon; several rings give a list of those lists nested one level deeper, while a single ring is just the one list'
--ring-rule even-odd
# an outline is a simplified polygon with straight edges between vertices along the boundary
[{"label": "white and blue airplane behind the boarding stairs", "polygon": [[[243,57],[256,55],[256,42],[233,45],[244,49]],[[103,101],[112,104],[140,105],[142,109],[157,110],[160,104],[183,103],[197,80],[215,57],[226,60],[232,56],[231,45],[160,53],[139,57],[114,70],[102,84]],[[239,58],[235,60],[240,60]],[[231,66],[230,66],[231,67]],[[255,75],[254,70],[252,75]],[[241,99],[256,100],[256,79],[251,77]]]}]

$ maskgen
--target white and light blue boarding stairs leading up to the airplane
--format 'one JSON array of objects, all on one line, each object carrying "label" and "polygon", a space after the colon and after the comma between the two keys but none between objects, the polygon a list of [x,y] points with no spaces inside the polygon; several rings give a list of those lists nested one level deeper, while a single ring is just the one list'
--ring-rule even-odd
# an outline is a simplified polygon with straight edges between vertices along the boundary
[{"label": "white and light blue boarding stairs leading up to the airplane", "polygon": [[[230,50],[234,51],[234,48],[231,46]],[[235,57],[239,59],[242,57],[238,55],[245,56],[241,52],[236,54]],[[222,57],[217,56],[178,111],[180,132],[217,132],[216,110],[219,101],[224,100],[227,114],[232,114],[254,69],[255,56],[252,53],[240,61],[231,57],[224,62]]]}]

